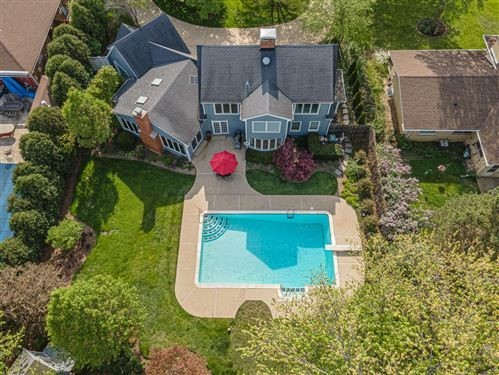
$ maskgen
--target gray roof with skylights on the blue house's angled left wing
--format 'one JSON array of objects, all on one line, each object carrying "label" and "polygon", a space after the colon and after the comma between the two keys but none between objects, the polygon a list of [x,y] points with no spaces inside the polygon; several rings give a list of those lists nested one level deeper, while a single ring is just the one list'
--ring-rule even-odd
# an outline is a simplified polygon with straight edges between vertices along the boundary
[{"label": "gray roof with skylights on the blue house's angled left wing", "polygon": [[[190,75],[197,75],[192,60],[152,68],[119,97],[113,112],[131,116],[139,107],[155,126],[189,144],[199,131],[198,86],[189,83]],[[157,78],[159,86],[151,85]],[[136,103],[140,96],[148,98],[144,104]]]}]

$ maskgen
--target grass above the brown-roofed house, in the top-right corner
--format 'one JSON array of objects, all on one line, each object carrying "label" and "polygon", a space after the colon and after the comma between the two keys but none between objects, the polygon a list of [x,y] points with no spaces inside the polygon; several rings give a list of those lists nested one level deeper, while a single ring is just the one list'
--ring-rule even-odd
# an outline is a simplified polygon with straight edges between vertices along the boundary
[{"label": "grass above the brown-roofed house, in the top-right corner", "polygon": [[483,8],[471,7],[456,19],[445,17],[449,32],[443,37],[427,37],[416,31],[422,18],[434,8],[420,0],[378,0],[375,6],[375,44],[383,49],[484,48],[483,34],[497,34],[499,0],[487,0]]}]

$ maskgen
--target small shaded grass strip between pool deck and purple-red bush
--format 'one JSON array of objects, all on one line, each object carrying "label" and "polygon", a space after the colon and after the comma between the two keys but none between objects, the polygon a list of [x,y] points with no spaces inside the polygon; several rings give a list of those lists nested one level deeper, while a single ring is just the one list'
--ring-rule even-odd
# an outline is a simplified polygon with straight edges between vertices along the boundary
[{"label": "small shaded grass strip between pool deck and purple-red bush", "polygon": [[332,174],[317,172],[306,182],[287,182],[261,170],[247,170],[246,178],[253,189],[268,195],[331,195],[338,190]]}]

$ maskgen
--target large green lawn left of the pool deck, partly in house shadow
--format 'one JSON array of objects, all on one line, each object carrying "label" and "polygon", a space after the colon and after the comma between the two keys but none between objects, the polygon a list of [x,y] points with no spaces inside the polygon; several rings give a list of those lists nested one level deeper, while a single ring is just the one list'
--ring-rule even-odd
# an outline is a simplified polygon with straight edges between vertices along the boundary
[{"label": "large green lawn left of the pool deck, partly in house shadow", "polygon": [[148,312],[144,353],[152,346],[186,345],[207,359],[213,373],[227,373],[230,321],[190,316],[174,293],[183,196],[193,182],[140,162],[90,160],[71,211],[98,238],[77,278],[110,274],[138,289]]}]

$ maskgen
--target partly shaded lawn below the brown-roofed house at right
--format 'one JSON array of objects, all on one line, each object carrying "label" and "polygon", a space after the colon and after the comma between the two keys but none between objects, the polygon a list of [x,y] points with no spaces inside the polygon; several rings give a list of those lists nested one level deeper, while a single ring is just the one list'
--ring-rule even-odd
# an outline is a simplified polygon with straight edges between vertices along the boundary
[{"label": "partly shaded lawn below the brown-roofed house at right", "polygon": [[[462,146],[451,145],[449,151],[439,151],[430,144],[414,144],[402,156],[412,167],[412,175],[419,180],[423,189],[421,204],[427,208],[442,207],[450,197],[477,192],[473,177],[462,177],[466,170],[462,158]],[[439,165],[447,167],[445,172],[438,170]]]}]

